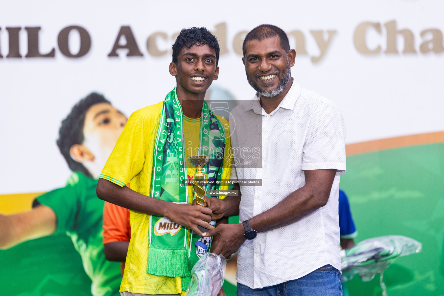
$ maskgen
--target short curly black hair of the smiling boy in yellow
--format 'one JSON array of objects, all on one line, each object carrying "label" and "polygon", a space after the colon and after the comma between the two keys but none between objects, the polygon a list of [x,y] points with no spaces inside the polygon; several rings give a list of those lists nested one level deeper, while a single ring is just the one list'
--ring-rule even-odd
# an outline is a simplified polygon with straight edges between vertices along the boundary
[{"label": "short curly black hair of the smiling boy in yellow", "polygon": [[216,67],[219,62],[219,43],[216,36],[205,27],[182,29],[173,44],[173,63],[177,63],[177,57],[182,48],[190,49],[193,45],[208,45],[216,51]]}]

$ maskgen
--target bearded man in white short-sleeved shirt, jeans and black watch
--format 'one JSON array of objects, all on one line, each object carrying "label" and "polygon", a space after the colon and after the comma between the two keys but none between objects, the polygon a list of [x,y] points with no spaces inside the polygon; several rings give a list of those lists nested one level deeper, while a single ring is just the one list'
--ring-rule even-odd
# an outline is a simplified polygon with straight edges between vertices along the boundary
[{"label": "bearded man in white short-sleeved shirt, jeans and black watch", "polygon": [[[238,296],[340,296],[338,194],[339,176],[346,170],[342,115],[331,101],[293,81],[296,52],[280,28],[254,28],[243,54],[248,82],[257,93],[232,111],[236,124],[230,118],[230,130],[232,125],[237,129],[232,142],[244,151],[245,139],[258,130],[252,120],[262,122],[262,155],[255,168],[236,165],[232,178],[262,179],[262,185],[241,182],[239,197],[210,197],[212,219],[239,214],[243,222],[220,224],[203,235],[219,233],[214,253],[228,257],[239,249]],[[248,158],[238,157],[240,164]]]}]

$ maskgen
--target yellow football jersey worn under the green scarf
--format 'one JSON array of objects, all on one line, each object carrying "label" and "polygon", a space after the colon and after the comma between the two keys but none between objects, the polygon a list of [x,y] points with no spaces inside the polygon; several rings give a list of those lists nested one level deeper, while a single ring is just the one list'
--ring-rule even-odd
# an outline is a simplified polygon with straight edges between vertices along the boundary
[{"label": "yellow football jersey worn under the green scarf", "polygon": [[[130,188],[150,196],[151,178],[153,169],[154,147],[157,131],[159,129],[160,116],[163,102],[151,105],[135,111],[128,118],[108,161],[103,168],[100,178],[109,180],[117,185],[130,184]],[[224,155],[224,168],[222,179],[230,179],[230,130],[228,122],[218,117],[225,129],[226,146]],[[185,148],[193,151],[198,146],[200,120],[184,117]],[[188,164],[187,174],[192,177],[195,169]],[[228,190],[228,185],[221,186],[221,190]],[[192,199],[191,190],[189,197]],[[148,235],[149,215],[130,211],[131,240],[128,246],[125,271],[123,272],[120,291],[128,291],[140,294],[179,294],[182,293],[182,281],[180,277],[155,276],[148,274]]]}]

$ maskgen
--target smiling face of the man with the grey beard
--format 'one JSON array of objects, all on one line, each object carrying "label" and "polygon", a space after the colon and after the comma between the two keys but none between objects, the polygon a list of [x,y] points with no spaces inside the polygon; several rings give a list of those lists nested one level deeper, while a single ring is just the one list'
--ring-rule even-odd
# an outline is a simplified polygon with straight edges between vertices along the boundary
[{"label": "smiling face of the man with the grey beard", "polygon": [[264,97],[281,93],[291,79],[290,62],[281,47],[279,36],[246,42],[245,65],[248,83]]}]

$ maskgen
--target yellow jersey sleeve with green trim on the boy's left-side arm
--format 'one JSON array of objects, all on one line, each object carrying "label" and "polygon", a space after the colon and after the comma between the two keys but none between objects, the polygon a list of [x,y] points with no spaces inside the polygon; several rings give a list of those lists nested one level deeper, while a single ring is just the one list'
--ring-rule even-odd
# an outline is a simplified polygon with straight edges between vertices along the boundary
[{"label": "yellow jersey sleeve with green trim on the boy's left-side arm", "polygon": [[150,129],[147,124],[149,122],[145,122],[143,111],[131,114],[99,178],[123,187],[140,173],[149,142],[149,135],[145,134]]}]

